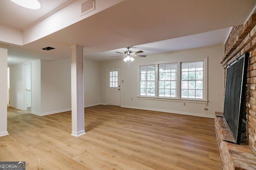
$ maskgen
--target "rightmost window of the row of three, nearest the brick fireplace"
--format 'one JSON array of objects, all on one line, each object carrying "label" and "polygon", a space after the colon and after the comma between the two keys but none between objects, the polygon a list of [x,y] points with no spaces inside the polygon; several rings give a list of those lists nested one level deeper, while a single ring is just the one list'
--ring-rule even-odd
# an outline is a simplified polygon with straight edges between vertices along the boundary
[{"label": "rightmost window of the row of three, nearest the brick fireplace", "polygon": [[181,97],[203,98],[203,62],[181,64]]}]

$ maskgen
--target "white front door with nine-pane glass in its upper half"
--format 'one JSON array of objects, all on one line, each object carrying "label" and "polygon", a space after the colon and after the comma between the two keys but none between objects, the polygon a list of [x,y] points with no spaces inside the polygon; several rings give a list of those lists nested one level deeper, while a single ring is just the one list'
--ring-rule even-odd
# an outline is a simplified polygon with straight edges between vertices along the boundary
[{"label": "white front door with nine-pane glass in its upper half", "polygon": [[121,68],[107,68],[107,104],[121,106],[120,102]]}]

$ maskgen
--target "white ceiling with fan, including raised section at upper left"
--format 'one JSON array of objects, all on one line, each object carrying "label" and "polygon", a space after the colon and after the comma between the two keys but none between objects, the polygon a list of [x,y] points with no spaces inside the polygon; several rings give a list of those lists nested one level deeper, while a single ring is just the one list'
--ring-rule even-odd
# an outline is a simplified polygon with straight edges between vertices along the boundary
[{"label": "white ceiling with fan, including raised section at upper left", "polygon": [[[28,12],[1,0],[0,24],[24,30],[72,1],[41,0],[42,11]],[[10,45],[8,64],[69,58],[73,44],[84,46],[84,56],[98,61],[116,59],[110,58],[118,55],[114,51],[123,53],[129,46],[131,51],[151,55],[223,45],[230,27],[243,24],[255,5],[256,0],[124,0],[32,43]],[[42,50],[48,46],[56,49]]]}]

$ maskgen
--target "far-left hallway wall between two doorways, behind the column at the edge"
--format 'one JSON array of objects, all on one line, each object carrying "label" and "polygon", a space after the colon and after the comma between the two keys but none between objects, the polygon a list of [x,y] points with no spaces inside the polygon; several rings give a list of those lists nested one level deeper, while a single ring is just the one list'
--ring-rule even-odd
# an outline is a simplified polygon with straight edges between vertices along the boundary
[{"label": "far-left hallway wall between two doorways, behind the column at the edge", "polygon": [[24,108],[24,66],[17,64],[10,66],[10,106]]}]

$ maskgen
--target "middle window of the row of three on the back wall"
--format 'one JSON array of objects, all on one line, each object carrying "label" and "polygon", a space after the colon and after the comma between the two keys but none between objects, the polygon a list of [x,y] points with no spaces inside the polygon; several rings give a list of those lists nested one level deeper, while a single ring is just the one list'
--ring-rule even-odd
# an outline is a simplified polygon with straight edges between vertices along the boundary
[{"label": "middle window of the row of three on the back wall", "polygon": [[177,64],[159,65],[159,96],[177,97]]}]

